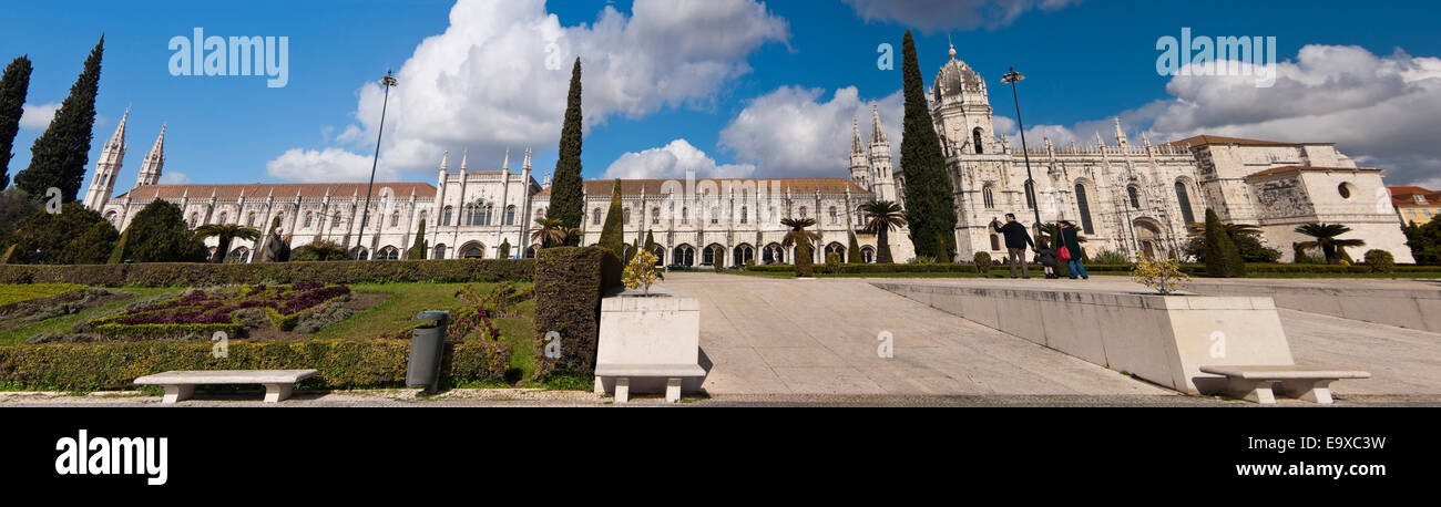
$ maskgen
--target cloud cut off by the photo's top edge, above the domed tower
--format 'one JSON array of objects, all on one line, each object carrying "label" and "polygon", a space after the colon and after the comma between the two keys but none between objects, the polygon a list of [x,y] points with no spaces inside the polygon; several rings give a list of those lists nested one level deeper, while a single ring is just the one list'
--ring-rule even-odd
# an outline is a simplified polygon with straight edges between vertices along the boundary
[{"label": "cloud cut off by the photo's top edge, above the domed tower", "polygon": [[1032,9],[1056,10],[1081,0],[844,0],[866,22],[895,22],[931,33],[997,29]]}]

